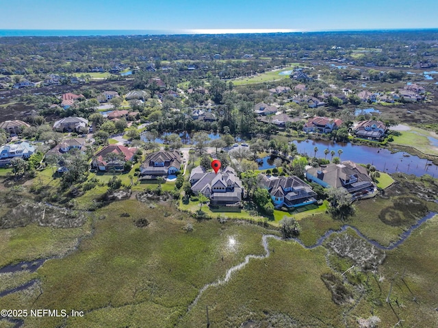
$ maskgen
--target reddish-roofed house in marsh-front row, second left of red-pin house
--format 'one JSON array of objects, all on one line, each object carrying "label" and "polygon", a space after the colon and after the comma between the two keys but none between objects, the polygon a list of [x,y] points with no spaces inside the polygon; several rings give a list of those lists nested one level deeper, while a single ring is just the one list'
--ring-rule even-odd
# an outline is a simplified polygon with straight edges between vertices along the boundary
[{"label": "reddish-roofed house in marsh-front row, second left of red-pin house", "polygon": [[[118,144],[110,144],[94,154],[91,167],[99,171],[123,171],[125,163],[133,160],[136,148],[128,148]],[[118,155],[117,159],[110,159],[110,153]]]}]

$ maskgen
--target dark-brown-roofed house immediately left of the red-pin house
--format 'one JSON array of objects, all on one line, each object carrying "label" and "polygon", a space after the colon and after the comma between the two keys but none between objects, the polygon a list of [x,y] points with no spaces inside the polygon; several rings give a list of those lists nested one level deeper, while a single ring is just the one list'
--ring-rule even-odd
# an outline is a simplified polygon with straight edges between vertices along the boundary
[{"label": "dark-brown-roofed house immediately left of the red-pin house", "polygon": [[146,157],[140,166],[140,175],[145,179],[168,177],[179,172],[182,162],[181,154],[177,150],[157,151]]}]

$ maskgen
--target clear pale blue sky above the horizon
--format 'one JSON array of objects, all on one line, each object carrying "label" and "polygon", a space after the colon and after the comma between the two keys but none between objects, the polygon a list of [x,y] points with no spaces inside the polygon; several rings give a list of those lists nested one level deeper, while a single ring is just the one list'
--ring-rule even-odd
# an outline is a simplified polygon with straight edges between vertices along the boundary
[{"label": "clear pale blue sky above the horizon", "polygon": [[415,29],[437,17],[437,0],[0,0],[0,29]]}]

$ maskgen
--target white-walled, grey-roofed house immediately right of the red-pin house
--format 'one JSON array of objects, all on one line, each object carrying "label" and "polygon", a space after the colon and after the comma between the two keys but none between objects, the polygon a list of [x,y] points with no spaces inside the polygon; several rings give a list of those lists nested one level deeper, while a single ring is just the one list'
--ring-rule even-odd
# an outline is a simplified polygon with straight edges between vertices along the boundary
[{"label": "white-walled, grey-roofed house immediately right of the red-pin house", "polygon": [[275,207],[299,207],[316,203],[316,192],[294,175],[267,177],[259,175],[259,181],[268,190]]}]

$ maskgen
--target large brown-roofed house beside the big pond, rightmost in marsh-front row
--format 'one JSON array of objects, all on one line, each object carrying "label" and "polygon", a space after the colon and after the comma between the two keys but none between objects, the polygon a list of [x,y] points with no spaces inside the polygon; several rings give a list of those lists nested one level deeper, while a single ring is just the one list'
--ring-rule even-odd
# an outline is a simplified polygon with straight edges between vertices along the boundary
[{"label": "large brown-roofed house beside the big pond, rightmost in marsh-front row", "polygon": [[309,168],[306,179],[324,188],[344,188],[353,199],[364,197],[375,189],[367,169],[351,161]]}]

